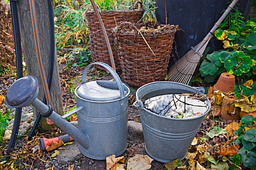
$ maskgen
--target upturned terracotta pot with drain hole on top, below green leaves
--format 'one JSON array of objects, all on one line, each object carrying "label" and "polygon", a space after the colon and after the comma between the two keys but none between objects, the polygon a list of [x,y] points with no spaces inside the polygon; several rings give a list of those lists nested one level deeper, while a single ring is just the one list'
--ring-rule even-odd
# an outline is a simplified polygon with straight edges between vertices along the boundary
[{"label": "upturned terracotta pot with drain hole on top, below green leaves", "polygon": [[213,90],[220,90],[222,94],[227,95],[228,92],[235,90],[235,75],[222,73],[219,80],[213,86]]}]

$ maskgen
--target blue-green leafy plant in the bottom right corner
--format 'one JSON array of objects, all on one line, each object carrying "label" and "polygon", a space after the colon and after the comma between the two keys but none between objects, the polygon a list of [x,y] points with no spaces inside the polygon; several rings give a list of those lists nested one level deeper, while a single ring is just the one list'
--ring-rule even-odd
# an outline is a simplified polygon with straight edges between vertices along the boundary
[{"label": "blue-green leafy plant in the bottom right corner", "polygon": [[[252,169],[256,168],[256,129],[254,121],[256,121],[256,117],[252,115],[244,116],[241,119],[239,129],[235,131],[235,134],[238,135],[235,143],[242,146],[237,154],[241,157],[243,165]],[[245,130],[246,128],[247,130]],[[238,165],[239,158],[233,157],[232,161]]]}]

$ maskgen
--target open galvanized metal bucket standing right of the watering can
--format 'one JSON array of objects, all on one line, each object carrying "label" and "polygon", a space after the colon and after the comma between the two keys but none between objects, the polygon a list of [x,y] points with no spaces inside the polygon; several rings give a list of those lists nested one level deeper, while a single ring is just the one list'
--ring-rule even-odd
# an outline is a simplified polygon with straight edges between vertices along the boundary
[{"label": "open galvanized metal bucket standing right of the watering can", "polygon": [[151,97],[167,94],[198,93],[203,94],[203,88],[193,88],[174,82],[148,83],[136,92],[134,107],[139,107],[142,122],[145,148],[147,154],[162,163],[175,159],[183,159],[193,141],[206,114],[210,111],[211,104],[205,97],[209,106],[207,111],[194,118],[171,118],[150,112],[143,107],[142,101]]}]

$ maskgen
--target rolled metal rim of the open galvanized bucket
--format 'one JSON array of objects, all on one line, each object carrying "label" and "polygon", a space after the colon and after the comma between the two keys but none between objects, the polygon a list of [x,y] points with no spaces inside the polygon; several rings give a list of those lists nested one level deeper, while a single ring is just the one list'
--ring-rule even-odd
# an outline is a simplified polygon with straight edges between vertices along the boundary
[{"label": "rolled metal rim of the open galvanized bucket", "polygon": [[[197,90],[198,91],[198,94],[203,94],[202,92],[200,92],[198,89],[196,89],[196,88],[194,88],[194,87],[191,87],[191,86],[188,86],[188,85],[186,85],[186,84],[182,84],[182,83],[177,83],[177,82],[171,82],[171,81],[156,81],[156,82],[151,82],[151,83],[148,83],[148,84],[145,84],[145,85],[143,85],[143,86],[141,86],[137,91],[136,91],[136,101],[138,102],[138,101],[141,101],[140,99],[139,99],[139,97],[138,97],[138,92],[141,90],[141,89],[143,89],[143,88],[145,88],[146,86],[148,86],[148,85],[151,85],[151,84],[159,84],[159,83],[168,83],[168,84],[177,84],[177,85],[182,85],[182,86],[185,86],[185,87],[188,87],[188,88],[190,88],[190,89],[194,89],[194,90]],[[159,90],[159,89],[158,89]],[[150,113],[150,114],[153,114],[153,115],[155,115],[155,116],[158,116],[158,117],[162,117],[162,118],[166,118],[166,119],[169,119],[169,120],[173,120],[173,121],[189,121],[189,120],[195,120],[195,119],[197,119],[197,118],[201,118],[201,117],[205,117],[209,112],[210,112],[210,109],[211,109],[211,102],[210,102],[210,100],[207,98],[207,97],[204,97],[205,98],[205,101],[206,101],[206,104],[207,104],[207,110],[205,111],[205,113],[203,114],[203,115],[200,115],[200,116],[196,116],[196,117],[193,117],[193,118],[172,118],[172,117],[166,117],[166,116],[161,116],[161,115],[158,115],[158,114],[156,114],[156,113],[153,113],[153,112],[151,112],[151,111],[149,111],[148,109],[146,109],[144,106],[143,106],[143,108],[140,108],[140,110],[141,109],[143,109],[145,112],[147,112],[147,113]]]}]

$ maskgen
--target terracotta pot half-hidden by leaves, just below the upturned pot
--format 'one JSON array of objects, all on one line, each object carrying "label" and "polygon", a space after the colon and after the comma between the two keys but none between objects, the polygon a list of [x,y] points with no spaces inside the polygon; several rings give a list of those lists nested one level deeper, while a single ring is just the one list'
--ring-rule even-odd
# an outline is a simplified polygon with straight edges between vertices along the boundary
[{"label": "terracotta pot half-hidden by leaves, just below the upturned pot", "polygon": [[234,100],[235,100],[235,98],[226,96],[223,99],[222,105],[221,105],[220,115],[222,118],[224,118],[225,120],[227,120],[229,122],[241,120],[241,118],[239,116],[240,108],[235,107],[235,105],[229,105],[229,103],[233,102]]}]

